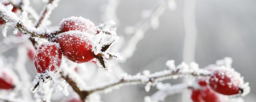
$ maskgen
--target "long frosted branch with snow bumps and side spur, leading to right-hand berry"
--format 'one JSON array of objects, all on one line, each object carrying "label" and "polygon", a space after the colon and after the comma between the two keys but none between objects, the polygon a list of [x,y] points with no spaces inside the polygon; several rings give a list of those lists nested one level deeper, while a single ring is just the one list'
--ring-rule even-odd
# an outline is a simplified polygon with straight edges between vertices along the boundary
[{"label": "long frosted branch with snow bumps and side spur, leading to right-hand berry", "polygon": [[[174,63],[173,63],[174,64]],[[175,66],[175,65],[174,65]],[[171,78],[185,77],[185,76],[194,76],[194,77],[206,77],[210,76],[212,73],[203,69],[198,69],[195,67],[195,63],[191,63],[188,66],[186,63],[182,63],[177,67],[172,67],[169,70],[164,70],[156,73],[150,74],[149,71],[144,71],[143,74],[138,73],[137,75],[123,75],[117,80],[104,83],[98,86],[92,86],[86,91],[89,93],[92,92],[111,92],[113,89],[118,89],[121,86],[129,84],[147,84],[145,89],[149,91],[151,85],[155,85],[157,82],[162,80],[167,80]],[[150,84],[151,83],[151,84]],[[149,87],[148,87],[149,86]]]}]

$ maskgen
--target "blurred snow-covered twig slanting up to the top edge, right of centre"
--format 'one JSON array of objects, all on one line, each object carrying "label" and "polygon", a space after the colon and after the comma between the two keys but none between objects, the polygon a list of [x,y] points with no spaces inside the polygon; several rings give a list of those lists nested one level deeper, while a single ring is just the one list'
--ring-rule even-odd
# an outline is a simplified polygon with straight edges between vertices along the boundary
[{"label": "blurred snow-covered twig slanting up to the top edge, right of centre", "polygon": [[[136,26],[132,29],[126,29],[129,33],[133,35],[128,39],[127,44],[121,51],[121,55],[124,58],[123,61],[132,57],[137,43],[143,38],[144,33],[150,28],[158,27],[158,19],[163,14],[164,10],[168,7],[169,0],[161,0],[156,6],[150,11],[150,14],[146,15]],[[157,25],[157,26],[156,26]],[[129,27],[131,28],[131,27]]]}]

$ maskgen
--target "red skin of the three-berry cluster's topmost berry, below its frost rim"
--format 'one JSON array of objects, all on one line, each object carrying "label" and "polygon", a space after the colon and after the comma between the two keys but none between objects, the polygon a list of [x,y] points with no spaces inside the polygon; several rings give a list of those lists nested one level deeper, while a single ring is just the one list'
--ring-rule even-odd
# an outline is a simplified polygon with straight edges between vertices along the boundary
[{"label": "red skin of the three-berry cluster's topmost berry, below its frost rim", "polygon": [[[79,30],[82,32],[88,32],[88,33],[97,33],[96,27],[93,23],[86,24],[89,22],[85,22],[83,20],[66,20],[62,24],[60,24],[60,31],[66,32],[71,30]],[[92,30],[92,29],[95,29]]]}]

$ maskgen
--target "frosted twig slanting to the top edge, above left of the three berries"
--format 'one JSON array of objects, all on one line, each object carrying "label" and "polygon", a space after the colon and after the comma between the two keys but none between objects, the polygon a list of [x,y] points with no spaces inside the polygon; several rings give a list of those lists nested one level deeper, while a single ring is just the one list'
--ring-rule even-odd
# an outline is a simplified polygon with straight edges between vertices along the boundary
[{"label": "frosted twig slanting to the top edge, above left of the three berries", "polygon": [[60,0],[49,0],[40,14],[40,19],[35,23],[36,28],[49,18],[50,14],[52,14],[52,10],[58,6],[59,1]]}]

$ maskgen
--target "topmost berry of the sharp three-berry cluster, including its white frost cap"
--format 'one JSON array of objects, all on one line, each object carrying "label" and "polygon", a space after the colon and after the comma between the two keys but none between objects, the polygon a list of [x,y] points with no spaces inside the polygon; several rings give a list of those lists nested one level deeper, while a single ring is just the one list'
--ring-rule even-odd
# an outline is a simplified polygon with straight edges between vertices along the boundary
[{"label": "topmost berry of the sharp three-berry cluster, including its white frost cap", "polygon": [[60,31],[66,32],[66,31],[82,31],[87,33],[96,34],[97,30],[94,26],[94,23],[90,20],[82,17],[75,17],[72,16],[70,18],[63,19],[62,22],[60,22]]}]

